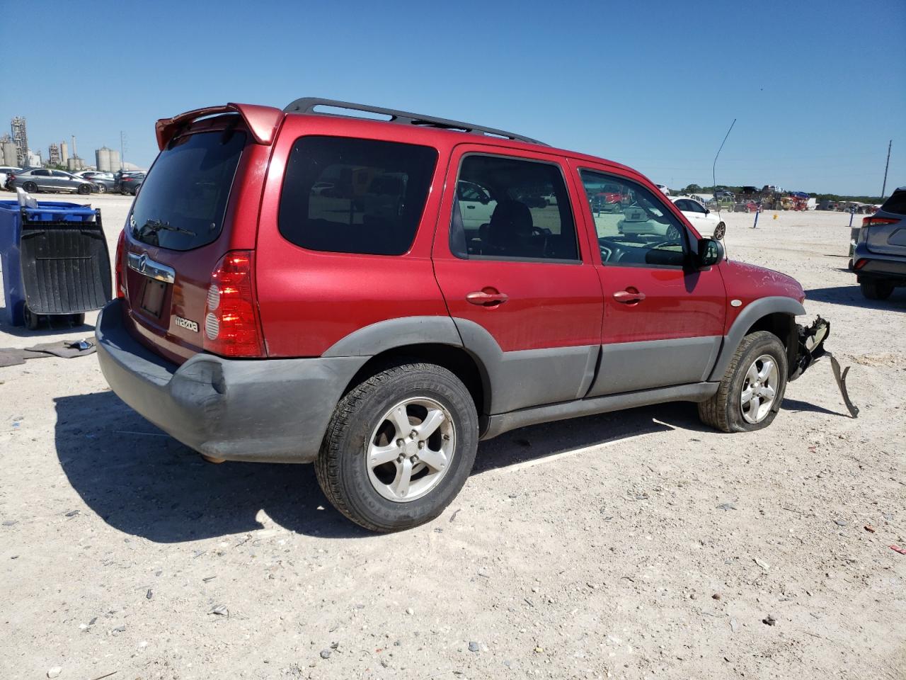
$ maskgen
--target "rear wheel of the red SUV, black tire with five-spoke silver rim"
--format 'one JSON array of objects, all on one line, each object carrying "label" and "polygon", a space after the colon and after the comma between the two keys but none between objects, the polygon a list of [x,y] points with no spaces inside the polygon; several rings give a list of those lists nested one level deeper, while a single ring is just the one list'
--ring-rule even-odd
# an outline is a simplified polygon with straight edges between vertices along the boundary
[{"label": "rear wheel of the red SUV, black tire with five-spoke silver rim", "polygon": [[[428,427],[424,448],[419,448],[421,433],[407,436],[390,420],[391,413],[399,413],[402,407],[408,421],[403,428],[412,427],[410,434],[417,434],[415,428],[429,421],[431,411],[411,400],[429,404],[444,416],[436,429]],[[438,468],[432,472],[427,462],[420,461],[418,453],[426,449],[432,460],[441,461],[438,456],[444,454],[432,450],[445,446],[449,447],[448,464],[436,462]],[[324,434],[314,470],[324,495],[347,518],[371,531],[399,531],[433,520],[448,506],[466,483],[477,446],[475,403],[456,375],[435,364],[395,364],[343,396]],[[381,451],[375,447],[389,452],[391,458],[401,453],[372,469],[366,456],[370,449]],[[411,500],[396,496],[393,489],[401,489],[407,466],[413,483],[406,485],[404,493]],[[420,495],[419,487],[425,490]]]}]

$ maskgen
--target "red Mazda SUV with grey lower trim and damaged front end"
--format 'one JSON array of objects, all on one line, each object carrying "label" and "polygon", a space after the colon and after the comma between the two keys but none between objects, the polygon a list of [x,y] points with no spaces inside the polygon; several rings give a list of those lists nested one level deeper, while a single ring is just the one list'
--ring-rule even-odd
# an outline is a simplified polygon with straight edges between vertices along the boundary
[{"label": "red Mazda SUV with grey lower trim and damaged front end", "polygon": [[[517,427],[670,401],[765,427],[828,330],[795,324],[794,279],[724,261],[610,160],[315,99],[199,109],[157,138],[97,325],[104,376],[208,460],[314,462],[368,529],[437,517],[478,441]],[[593,213],[603,185],[622,212]]]}]

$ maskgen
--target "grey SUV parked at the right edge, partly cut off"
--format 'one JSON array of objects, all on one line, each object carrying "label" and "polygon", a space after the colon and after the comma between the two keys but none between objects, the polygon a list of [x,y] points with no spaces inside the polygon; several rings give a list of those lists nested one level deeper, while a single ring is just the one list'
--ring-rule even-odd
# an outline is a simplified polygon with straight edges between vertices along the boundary
[{"label": "grey SUV parked at the right edge, partly cut off", "polygon": [[895,287],[906,286],[906,187],[863,218],[853,249],[853,271],[863,296],[870,300],[886,300]]}]

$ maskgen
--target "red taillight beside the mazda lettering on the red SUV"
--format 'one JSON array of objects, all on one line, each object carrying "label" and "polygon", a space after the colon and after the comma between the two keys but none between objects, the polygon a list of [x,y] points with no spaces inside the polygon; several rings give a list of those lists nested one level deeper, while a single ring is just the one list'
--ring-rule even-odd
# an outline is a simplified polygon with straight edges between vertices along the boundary
[{"label": "red taillight beside the mazda lettering on the red SUV", "polygon": [[233,250],[211,273],[205,304],[204,346],[222,356],[264,356],[255,303],[255,255]]}]

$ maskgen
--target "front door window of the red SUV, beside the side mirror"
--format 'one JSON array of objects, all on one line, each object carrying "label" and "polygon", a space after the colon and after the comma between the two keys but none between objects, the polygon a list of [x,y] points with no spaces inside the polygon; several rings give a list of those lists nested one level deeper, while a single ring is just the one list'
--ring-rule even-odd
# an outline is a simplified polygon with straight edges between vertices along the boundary
[{"label": "front door window of the red SUV, beside the side mirror", "polygon": [[[686,229],[663,200],[630,180],[592,170],[582,170],[581,175],[605,265],[683,266],[688,248]],[[620,195],[619,209],[594,209],[602,186],[612,187],[610,192]]]}]

